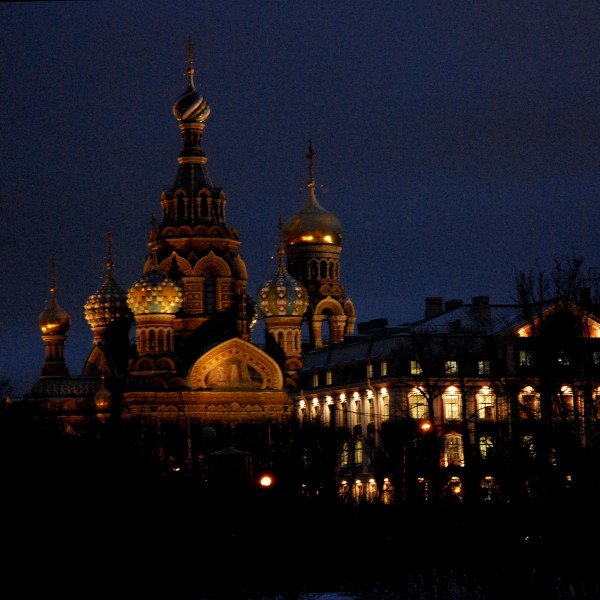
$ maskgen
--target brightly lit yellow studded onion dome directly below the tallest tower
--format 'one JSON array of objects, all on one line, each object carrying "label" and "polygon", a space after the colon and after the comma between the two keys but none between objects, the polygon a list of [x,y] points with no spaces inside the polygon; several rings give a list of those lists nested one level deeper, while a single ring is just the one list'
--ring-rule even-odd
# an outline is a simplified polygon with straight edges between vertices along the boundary
[{"label": "brightly lit yellow studded onion dome directly below the tallest tower", "polygon": [[157,266],[148,269],[127,294],[127,306],[134,315],[172,315],[182,304],[181,287]]}]

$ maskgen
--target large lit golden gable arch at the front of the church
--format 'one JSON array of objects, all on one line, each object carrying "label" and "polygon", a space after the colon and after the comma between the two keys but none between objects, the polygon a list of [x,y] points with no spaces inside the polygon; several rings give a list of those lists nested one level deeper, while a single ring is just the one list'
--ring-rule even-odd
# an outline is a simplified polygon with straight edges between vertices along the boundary
[{"label": "large lit golden gable arch at the front of the church", "polygon": [[191,389],[283,389],[283,374],[266,352],[232,338],[203,354],[188,374]]}]

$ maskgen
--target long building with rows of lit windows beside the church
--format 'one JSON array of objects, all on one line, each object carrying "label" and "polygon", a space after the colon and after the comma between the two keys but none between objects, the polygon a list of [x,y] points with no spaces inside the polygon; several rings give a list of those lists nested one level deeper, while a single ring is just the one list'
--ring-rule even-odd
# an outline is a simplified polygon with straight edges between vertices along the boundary
[{"label": "long building with rows of lit windows beside the church", "polygon": [[360,323],[308,352],[295,412],[335,431],[338,492],[509,501],[592,485],[583,457],[600,443],[598,320],[585,301],[524,314],[486,296],[428,298],[416,323]]}]

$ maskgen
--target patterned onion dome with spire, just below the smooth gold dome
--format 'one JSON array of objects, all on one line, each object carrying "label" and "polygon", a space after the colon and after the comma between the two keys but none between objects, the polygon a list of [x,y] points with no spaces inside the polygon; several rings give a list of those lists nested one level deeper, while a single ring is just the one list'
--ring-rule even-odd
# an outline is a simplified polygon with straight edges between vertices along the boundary
[{"label": "patterned onion dome with spire, just below the smooth gold dome", "polygon": [[265,317],[301,317],[308,307],[306,288],[294,279],[283,264],[285,250],[279,249],[279,266],[275,277],[258,291],[256,305]]}]

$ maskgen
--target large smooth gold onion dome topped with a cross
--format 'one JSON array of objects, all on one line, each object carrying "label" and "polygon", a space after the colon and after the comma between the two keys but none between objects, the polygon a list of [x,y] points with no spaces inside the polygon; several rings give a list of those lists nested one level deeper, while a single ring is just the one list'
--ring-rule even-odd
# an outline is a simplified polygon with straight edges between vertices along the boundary
[{"label": "large smooth gold onion dome topped with a cross", "polygon": [[312,176],[314,152],[309,144],[308,197],[298,213],[293,215],[283,228],[283,239],[288,246],[294,244],[335,244],[342,241],[342,225],[338,218],[325,210],[315,194],[315,180]]}]

